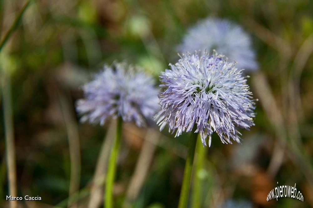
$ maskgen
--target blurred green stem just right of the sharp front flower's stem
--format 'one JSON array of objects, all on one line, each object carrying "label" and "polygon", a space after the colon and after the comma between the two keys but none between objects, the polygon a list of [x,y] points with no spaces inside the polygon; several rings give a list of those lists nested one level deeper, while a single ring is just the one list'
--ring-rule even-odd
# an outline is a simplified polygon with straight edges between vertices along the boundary
[{"label": "blurred green stem just right of the sharp front flower's stem", "polygon": [[[200,136],[198,136],[200,137]],[[203,147],[202,141],[200,138],[198,138],[197,141],[197,159],[196,159],[196,171],[195,171],[195,177],[193,181],[193,189],[192,189],[192,208],[198,208],[201,207],[201,184],[203,183],[203,178],[201,178],[201,171],[204,168],[204,161],[206,156],[206,148]]]}]

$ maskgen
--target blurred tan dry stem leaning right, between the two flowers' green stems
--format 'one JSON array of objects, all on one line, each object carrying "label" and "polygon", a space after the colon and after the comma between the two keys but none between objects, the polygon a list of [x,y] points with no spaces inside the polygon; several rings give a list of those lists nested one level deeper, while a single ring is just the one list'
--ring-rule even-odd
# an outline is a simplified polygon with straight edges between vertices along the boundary
[{"label": "blurred tan dry stem leaning right, between the two flowers' green stems", "polygon": [[[158,143],[160,133],[152,129],[148,129],[145,137],[152,137],[152,140]],[[137,198],[141,187],[143,186],[145,179],[148,175],[149,167],[151,165],[151,161],[156,150],[156,144],[151,143],[146,138],[143,146],[141,147],[135,171],[133,176],[131,177],[131,181],[126,192],[126,200],[123,207],[131,207],[131,202]]]}]

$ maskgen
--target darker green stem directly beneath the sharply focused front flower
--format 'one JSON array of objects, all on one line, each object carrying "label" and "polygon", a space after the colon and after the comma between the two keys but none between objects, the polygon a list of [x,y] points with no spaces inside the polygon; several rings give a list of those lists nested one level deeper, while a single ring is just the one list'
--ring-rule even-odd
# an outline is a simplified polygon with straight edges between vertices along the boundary
[{"label": "darker green stem directly beneath the sharply focused front flower", "polygon": [[188,147],[188,152],[187,152],[184,177],[182,179],[182,190],[180,192],[178,208],[187,207],[193,158],[195,155],[197,137],[198,137],[198,133],[194,133],[194,131],[196,131],[196,128],[197,128],[197,125],[194,125],[190,138],[189,138],[189,147]]}]

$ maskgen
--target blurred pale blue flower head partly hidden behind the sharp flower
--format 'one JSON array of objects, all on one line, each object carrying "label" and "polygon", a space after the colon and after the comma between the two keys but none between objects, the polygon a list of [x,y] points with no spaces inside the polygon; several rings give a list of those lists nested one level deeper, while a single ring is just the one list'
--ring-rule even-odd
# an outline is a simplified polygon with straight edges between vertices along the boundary
[{"label": "blurred pale blue flower head partly hidden behind the sharp flower", "polygon": [[182,53],[214,49],[224,54],[230,61],[236,60],[239,69],[258,68],[249,35],[240,26],[228,20],[218,18],[201,20],[188,30],[178,49]]}]

